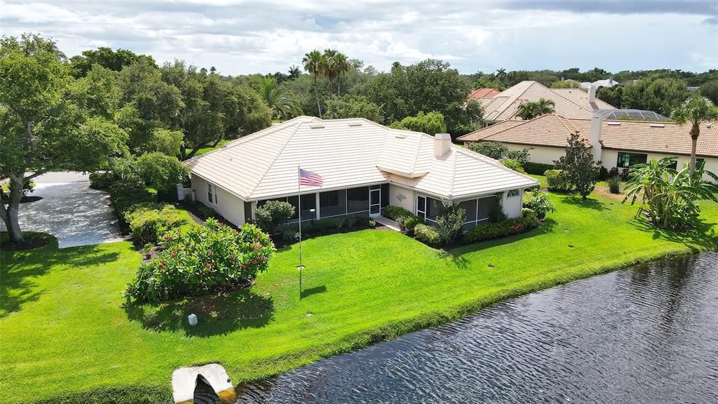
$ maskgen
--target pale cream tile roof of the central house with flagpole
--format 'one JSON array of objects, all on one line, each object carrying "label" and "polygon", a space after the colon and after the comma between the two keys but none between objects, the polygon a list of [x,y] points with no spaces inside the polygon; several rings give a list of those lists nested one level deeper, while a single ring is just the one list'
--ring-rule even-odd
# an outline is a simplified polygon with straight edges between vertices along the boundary
[{"label": "pale cream tile roof of the central house with flagpole", "polygon": [[434,157],[434,137],[366,119],[307,116],[276,124],[187,160],[193,175],[244,201],[297,193],[297,167],[324,178],[302,193],[393,182],[442,198],[537,185],[488,157],[451,146]]}]

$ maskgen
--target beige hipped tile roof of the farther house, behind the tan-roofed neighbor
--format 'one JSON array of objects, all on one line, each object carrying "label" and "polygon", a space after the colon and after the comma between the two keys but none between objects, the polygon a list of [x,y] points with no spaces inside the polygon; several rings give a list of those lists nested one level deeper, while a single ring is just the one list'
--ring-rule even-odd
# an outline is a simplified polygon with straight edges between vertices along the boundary
[{"label": "beige hipped tile roof of the farther house, behind the tan-roofed neighbor", "polygon": [[522,81],[511,88],[487,98],[476,98],[481,103],[486,121],[500,122],[521,119],[518,106],[544,98],[554,101],[556,114],[569,118],[590,119],[597,109],[613,106],[596,98],[596,89],[586,92],[580,88],[548,88],[538,81]]}]

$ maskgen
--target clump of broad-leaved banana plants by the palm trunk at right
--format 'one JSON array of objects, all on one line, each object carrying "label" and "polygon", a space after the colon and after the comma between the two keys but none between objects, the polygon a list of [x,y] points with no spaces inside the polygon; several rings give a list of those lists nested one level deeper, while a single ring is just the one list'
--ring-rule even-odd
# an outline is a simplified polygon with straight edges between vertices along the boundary
[{"label": "clump of broad-leaved banana plants by the palm trunk at right", "polygon": [[699,200],[718,201],[718,187],[701,181],[703,175],[716,181],[718,176],[704,170],[705,162],[693,175],[690,167],[676,171],[671,168],[675,159],[651,159],[631,167],[623,202],[630,199],[633,205],[640,196],[637,216],[645,214],[651,224],[663,229],[682,230],[698,222]]}]

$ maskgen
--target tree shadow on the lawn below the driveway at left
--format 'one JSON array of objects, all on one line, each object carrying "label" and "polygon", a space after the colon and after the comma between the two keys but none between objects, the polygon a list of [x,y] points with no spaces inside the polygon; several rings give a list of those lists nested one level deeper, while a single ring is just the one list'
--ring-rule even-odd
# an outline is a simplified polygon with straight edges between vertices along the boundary
[{"label": "tree shadow on the lawn below the driveway at left", "polygon": [[46,288],[39,288],[35,279],[46,275],[51,268],[67,271],[102,265],[116,261],[119,255],[118,252],[101,252],[100,246],[58,249],[57,239],[49,234],[46,236],[50,237],[50,242],[44,247],[0,253],[0,318],[20,311],[24,304],[39,299]]}]

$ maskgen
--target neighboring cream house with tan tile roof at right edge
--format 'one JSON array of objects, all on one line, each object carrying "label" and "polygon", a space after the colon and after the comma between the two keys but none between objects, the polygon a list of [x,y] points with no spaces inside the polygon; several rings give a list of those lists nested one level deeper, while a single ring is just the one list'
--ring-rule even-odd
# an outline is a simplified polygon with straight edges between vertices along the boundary
[{"label": "neighboring cream house with tan tile roof at right edge", "polygon": [[[458,140],[501,142],[511,150],[531,148],[529,161],[554,164],[565,155],[569,135],[578,132],[591,145],[595,159],[609,170],[663,157],[677,157],[680,168],[690,160],[690,130],[690,124],[667,121],[607,120],[599,112],[592,119],[547,114],[530,121],[500,122]],[[706,161],[707,170],[718,173],[718,122],[701,124],[696,155]]]}]

